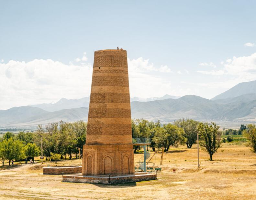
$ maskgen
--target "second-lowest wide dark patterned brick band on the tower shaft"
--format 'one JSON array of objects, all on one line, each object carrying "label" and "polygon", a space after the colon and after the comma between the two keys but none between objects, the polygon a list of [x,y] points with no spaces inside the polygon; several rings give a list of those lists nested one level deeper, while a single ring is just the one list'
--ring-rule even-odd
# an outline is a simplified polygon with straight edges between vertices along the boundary
[{"label": "second-lowest wide dark patterned brick band on the tower shaft", "polygon": [[131,110],[122,108],[89,108],[91,118],[130,118]]}]

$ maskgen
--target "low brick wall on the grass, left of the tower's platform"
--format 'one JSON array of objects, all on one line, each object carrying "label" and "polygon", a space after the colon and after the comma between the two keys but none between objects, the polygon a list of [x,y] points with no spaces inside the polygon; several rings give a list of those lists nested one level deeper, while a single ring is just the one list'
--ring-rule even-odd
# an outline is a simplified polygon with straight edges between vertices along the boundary
[{"label": "low brick wall on the grass, left of the tower's platform", "polygon": [[59,174],[79,174],[82,173],[82,166],[52,166],[44,167],[43,174],[59,175]]}]

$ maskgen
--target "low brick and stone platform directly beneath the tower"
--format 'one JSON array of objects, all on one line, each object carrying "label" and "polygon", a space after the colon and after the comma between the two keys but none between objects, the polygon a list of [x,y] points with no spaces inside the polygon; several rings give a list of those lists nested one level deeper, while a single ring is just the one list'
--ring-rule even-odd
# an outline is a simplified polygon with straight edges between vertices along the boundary
[{"label": "low brick and stone platform directly beneath the tower", "polygon": [[101,184],[124,184],[139,181],[155,180],[156,175],[154,173],[135,173],[128,175],[111,175],[110,179],[108,175],[82,175],[82,174],[71,174],[63,175],[62,182],[72,183],[101,183]]}]

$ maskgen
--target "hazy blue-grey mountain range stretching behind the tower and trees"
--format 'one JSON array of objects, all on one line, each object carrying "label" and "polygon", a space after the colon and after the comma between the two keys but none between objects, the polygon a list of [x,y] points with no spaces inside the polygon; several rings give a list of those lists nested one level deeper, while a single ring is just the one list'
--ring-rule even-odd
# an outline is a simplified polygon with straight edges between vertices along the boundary
[{"label": "hazy blue-grey mountain range stretching behind the tower and trees", "polygon": [[[69,100],[62,98],[55,104],[28,105],[0,110],[0,125],[38,125],[60,120],[86,121],[89,99],[89,97]],[[134,97],[131,98],[131,115],[132,118],[153,121],[160,119],[162,123],[179,118],[219,122],[256,122],[256,81],[239,83],[211,100],[195,95],[182,97],[164,95],[147,99]]]}]

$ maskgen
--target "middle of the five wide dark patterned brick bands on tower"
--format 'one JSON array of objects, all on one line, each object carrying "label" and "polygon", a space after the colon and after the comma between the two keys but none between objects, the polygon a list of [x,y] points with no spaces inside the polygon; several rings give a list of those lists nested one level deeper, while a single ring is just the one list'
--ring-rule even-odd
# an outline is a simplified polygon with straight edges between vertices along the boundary
[{"label": "middle of the five wide dark patterned brick bands on tower", "polygon": [[127,93],[91,93],[90,103],[130,103]]}]

